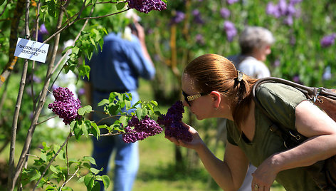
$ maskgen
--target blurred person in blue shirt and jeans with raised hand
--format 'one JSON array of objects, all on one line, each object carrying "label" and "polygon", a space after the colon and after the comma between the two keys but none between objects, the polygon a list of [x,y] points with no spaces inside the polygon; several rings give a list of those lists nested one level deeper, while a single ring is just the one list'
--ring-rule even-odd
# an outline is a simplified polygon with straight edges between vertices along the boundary
[{"label": "blurred person in blue shirt and jeans with raised hand", "polygon": [[[95,110],[91,120],[96,123],[107,117],[103,107],[97,105],[108,99],[111,92],[131,93],[133,105],[139,100],[139,78],[154,78],[155,68],[145,44],[144,29],[137,21],[132,26],[136,29],[132,33],[127,27],[123,33],[105,36],[102,51],[95,53],[88,63],[91,70],[85,92]],[[110,118],[101,123],[112,125],[113,122]],[[104,168],[99,175],[107,174],[112,152],[115,152],[113,190],[130,191],[139,167],[138,143],[124,143],[121,135],[101,136],[99,140],[93,138],[93,158],[97,163],[93,167]],[[100,184],[100,190],[103,188]]]}]

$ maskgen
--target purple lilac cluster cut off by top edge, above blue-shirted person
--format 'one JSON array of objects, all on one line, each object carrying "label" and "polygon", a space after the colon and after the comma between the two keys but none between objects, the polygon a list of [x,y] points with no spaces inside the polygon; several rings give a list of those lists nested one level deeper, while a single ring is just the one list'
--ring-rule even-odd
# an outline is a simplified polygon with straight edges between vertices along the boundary
[{"label": "purple lilac cluster cut off by top edge, above blue-shirted person", "polygon": [[127,0],[130,9],[136,9],[142,13],[148,14],[149,11],[162,11],[167,9],[167,4],[161,0]]}]

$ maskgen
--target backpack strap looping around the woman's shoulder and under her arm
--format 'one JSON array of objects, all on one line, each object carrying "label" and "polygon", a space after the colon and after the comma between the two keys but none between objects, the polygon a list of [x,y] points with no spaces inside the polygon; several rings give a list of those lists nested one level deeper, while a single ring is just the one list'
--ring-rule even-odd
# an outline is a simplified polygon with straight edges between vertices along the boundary
[{"label": "backpack strap looping around the woman's shoulder and under her arm", "polygon": [[[280,79],[280,80],[279,80]],[[261,78],[259,79],[256,84],[253,86],[252,89],[252,96],[253,96],[253,100],[256,103],[256,107],[260,108],[261,111],[263,112],[264,115],[266,115],[266,117],[271,120],[271,122],[273,123],[273,125],[271,125],[270,130],[277,134],[278,136],[280,136],[280,138],[283,140],[283,143],[285,145],[286,148],[293,148],[296,145],[299,145],[300,143],[303,143],[303,141],[305,141],[307,138],[303,135],[301,135],[300,133],[298,133],[298,131],[296,130],[290,130],[289,128],[285,128],[283,127],[283,125],[280,125],[276,122],[276,120],[269,115],[269,113],[267,112],[267,110],[265,108],[263,108],[263,105],[261,105],[261,102],[258,100],[257,96],[256,96],[256,89],[258,88],[258,86],[260,86],[263,83],[283,83],[284,84],[288,84],[288,82],[290,81],[285,81],[281,78],[273,78],[273,77],[267,77],[267,78]],[[292,82],[290,82],[292,83]],[[291,86],[291,85],[289,85]],[[295,87],[296,88],[296,87]],[[314,88],[309,88],[308,89],[304,89],[306,93],[313,93]],[[306,95],[307,96],[307,95]]]}]

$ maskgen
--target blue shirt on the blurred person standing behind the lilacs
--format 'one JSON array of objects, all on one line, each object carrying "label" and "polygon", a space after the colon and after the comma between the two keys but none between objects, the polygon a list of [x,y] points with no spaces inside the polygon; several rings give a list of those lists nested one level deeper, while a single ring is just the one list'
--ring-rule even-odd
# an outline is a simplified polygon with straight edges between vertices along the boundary
[{"label": "blue shirt on the blurred person standing behind the lilacs", "polygon": [[103,51],[93,55],[89,66],[90,82],[100,91],[136,91],[140,77],[151,79],[155,74],[137,36],[128,41],[121,33],[105,36]]}]

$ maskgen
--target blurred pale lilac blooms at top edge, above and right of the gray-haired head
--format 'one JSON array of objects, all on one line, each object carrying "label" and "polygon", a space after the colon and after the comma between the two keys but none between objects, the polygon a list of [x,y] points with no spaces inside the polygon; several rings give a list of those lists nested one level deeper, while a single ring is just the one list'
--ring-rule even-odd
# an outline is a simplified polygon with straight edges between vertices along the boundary
[{"label": "blurred pale lilac blooms at top edge, above and right of the gray-haired head", "polygon": [[284,17],[283,22],[287,25],[293,24],[293,16],[300,16],[300,9],[295,8],[295,4],[300,3],[302,0],[279,0],[278,4],[269,2],[266,7],[266,13],[275,16],[275,18]]}]

